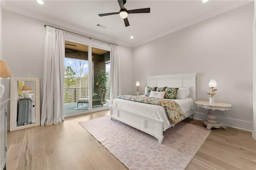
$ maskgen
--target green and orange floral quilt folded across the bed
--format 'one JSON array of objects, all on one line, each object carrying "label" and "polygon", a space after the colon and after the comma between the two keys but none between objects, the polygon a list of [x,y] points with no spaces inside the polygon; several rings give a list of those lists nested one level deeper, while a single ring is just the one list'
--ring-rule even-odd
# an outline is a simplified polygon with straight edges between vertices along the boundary
[{"label": "green and orange floral quilt folded across the bed", "polygon": [[145,96],[131,96],[131,95],[117,96],[116,98],[162,106],[166,109],[166,113],[168,115],[168,118],[170,119],[170,123],[172,124],[172,126],[174,126],[176,123],[186,118],[186,115],[183,113],[180,106],[172,100],[148,98]]}]

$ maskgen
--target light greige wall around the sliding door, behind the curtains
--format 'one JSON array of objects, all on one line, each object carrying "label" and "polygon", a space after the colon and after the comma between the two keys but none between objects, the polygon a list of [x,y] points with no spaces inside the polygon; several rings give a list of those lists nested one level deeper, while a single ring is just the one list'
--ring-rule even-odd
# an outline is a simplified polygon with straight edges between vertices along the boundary
[{"label": "light greige wall around the sliding door, behind the curtains", "polygon": [[[3,13],[4,59],[15,78],[40,78],[40,107],[42,108],[43,57],[46,35],[44,25],[52,25],[61,29],[65,28],[8,10],[3,10]],[[132,92],[130,84],[133,79],[131,71],[132,48],[119,45],[119,53],[122,85],[124,86],[122,93],[130,94]],[[9,96],[7,97],[10,98],[10,89],[8,90]]]}]

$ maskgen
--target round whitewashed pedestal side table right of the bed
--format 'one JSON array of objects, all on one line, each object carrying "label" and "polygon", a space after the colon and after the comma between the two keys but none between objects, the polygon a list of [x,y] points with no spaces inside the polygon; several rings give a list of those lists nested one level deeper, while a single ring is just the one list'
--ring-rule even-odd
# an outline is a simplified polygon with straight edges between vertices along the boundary
[{"label": "round whitewashed pedestal side table right of the bed", "polygon": [[222,102],[210,103],[209,101],[196,101],[195,103],[197,107],[209,109],[207,113],[208,120],[202,121],[202,123],[206,125],[206,129],[210,130],[212,127],[215,127],[215,128],[222,127],[223,129],[227,129],[227,127],[224,126],[222,123],[218,123],[216,121],[217,115],[215,113],[215,110],[229,111],[231,110],[232,104],[222,103]]}]

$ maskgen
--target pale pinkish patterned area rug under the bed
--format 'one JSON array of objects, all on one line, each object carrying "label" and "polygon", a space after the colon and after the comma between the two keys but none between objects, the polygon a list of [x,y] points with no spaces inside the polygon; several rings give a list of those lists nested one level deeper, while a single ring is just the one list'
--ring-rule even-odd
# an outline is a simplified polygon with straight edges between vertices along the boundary
[{"label": "pale pinkish patterned area rug under the bed", "polygon": [[164,131],[159,144],[155,137],[110,116],[80,125],[130,170],[185,169],[210,134],[203,127],[180,122]]}]

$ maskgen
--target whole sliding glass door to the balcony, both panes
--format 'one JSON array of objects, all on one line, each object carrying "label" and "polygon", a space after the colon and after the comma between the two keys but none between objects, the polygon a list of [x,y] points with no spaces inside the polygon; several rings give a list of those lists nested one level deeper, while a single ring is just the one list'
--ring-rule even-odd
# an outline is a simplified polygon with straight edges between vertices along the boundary
[{"label": "whole sliding glass door to the balcony, both panes", "polygon": [[110,101],[110,50],[65,41],[65,115],[106,109]]}]

